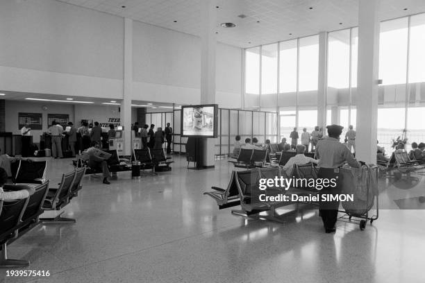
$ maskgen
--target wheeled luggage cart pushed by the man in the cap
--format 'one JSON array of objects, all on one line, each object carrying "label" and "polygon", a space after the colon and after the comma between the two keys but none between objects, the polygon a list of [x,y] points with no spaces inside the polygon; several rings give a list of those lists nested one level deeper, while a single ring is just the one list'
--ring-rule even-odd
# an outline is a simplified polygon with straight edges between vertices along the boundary
[{"label": "wheeled luggage cart pushed by the man in the cap", "polygon": [[[344,215],[340,216],[338,220],[347,223],[358,223],[360,230],[363,231],[366,228],[367,221],[370,221],[370,224],[372,224],[379,217],[379,192],[377,185],[379,167],[363,165],[361,169],[362,171],[367,171],[366,196],[365,198],[360,198],[356,189],[351,191],[351,193],[355,196],[355,200],[353,203],[342,203],[342,207],[344,209],[338,210],[338,212],[342,212]],[[344,174],[345,179],[346,176],[350,176],[349,174],[351,174],[351,169],[343,167],[342,173]],[[349,181],[347,180],[347,182]],[[374,182],[376,182],[376,187],[374,187]],[[344,188],[342,190],[347,193]],[[372,214],[372,216],[370,216],[369,212],[374,205],[376,205],[376,214]]]}]

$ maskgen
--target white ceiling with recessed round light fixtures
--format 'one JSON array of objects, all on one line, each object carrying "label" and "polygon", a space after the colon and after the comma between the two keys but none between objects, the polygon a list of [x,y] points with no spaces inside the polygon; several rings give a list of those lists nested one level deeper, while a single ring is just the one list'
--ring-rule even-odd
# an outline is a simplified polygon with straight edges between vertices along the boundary
[{"label": "white ceiling with recessed round light fixtures", "polygon": [[[200,35],[201,0],[57,1]],[[358,0],[216,0],[216,3],[219,6],[217,40],[242,48],[358,24]],[[425,12],[424,0],[381,0],[381,20],[419,12]],[[241,14],[247,17],[241,19],[238,17]],[[236,27],[222,28],[219,26],[222,22],[233,22]]]}]

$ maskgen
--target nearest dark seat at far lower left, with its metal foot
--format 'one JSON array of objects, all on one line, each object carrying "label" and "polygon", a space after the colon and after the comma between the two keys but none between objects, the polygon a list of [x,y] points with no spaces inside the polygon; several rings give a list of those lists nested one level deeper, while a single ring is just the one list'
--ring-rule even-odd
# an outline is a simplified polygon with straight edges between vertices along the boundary
[{"label": "nearest dark seat at far lower left, with its metal foot", "polygon": [[22,268],[29,266],[29,261],[8,259],[8,241],[17,237],[17,229],[24,215],[29,198],[22,200],[0,200],[0,268]]}]

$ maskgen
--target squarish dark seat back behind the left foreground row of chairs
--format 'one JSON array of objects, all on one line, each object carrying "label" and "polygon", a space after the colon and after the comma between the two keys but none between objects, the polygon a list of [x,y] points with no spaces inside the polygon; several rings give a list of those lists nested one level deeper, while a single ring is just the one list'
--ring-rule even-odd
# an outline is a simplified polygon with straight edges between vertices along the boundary
[{"label": "squarish dark seat back behind the left foreground row of chairs", "polygon": [[47,161],[19,160],[15,183],[42,184]]}]

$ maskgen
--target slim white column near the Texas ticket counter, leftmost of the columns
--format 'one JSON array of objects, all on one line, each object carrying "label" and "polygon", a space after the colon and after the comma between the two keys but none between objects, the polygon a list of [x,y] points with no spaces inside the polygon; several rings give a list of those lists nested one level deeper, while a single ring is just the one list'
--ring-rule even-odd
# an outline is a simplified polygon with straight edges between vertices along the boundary
[{"label": "slim white column near the Texas ticket counter, leftmost of the columns", "polygon": [[124,19],[124,95],[120,119],[124,126],[124,155],[131,154],[131,97],[133,94],[133,20]]}]

